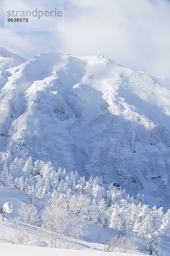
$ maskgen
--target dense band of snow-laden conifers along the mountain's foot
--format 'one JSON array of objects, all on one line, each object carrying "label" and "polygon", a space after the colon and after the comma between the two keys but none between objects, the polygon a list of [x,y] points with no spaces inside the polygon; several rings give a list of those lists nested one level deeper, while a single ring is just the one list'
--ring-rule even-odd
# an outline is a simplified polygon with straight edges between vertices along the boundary
[{"label": "dense band of snow-laden conifers along the mountain's foot", "polygon": [[[91,221],[120,230],[121,236],[135,234],[148,241],[159,241],[159,233],[170,232],[170,209],[164,213],[163,208],[152,209],[144,204],[144,197],[127,195],[125,189],[116,189],[112,184],[104,189],[102,177],[91,176],[88,181],[79,177],[77,171],[66,173],[65,169],[54,169],[51,162],[32,158],[24,161],[17,157],[12,160],[10,153],[0,153],[0,185],[20,189],[32,200],[33,196],[51,201],[54,196],[84,195],[90,201],[89,216]],[[12,175],[15,174],[15,179]],[[61,197],[62,198],[62,197]],[[63,202],[64,203],[64,202]],[[161,242],[160,242],[161,243]]]}]

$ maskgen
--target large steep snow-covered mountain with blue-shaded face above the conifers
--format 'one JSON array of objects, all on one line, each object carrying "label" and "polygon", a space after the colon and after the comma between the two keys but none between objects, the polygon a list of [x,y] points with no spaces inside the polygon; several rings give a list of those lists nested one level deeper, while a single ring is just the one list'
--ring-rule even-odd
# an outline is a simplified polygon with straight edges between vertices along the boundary
[{"label": "large steep snow-covered mountain with blue-shaded face above the conifers", "polygon": [[0,151],[101,175],[170,207],[169,80],[101,54],[42,53],[5,72]]}]

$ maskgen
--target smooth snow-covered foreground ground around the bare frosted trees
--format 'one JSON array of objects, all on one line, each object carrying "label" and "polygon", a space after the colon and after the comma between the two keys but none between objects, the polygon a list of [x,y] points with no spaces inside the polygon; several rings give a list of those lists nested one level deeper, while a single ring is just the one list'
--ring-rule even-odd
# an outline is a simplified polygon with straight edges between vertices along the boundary
[{"label": "smooth snow-covered foreground ground around the bare frosted trees", "polygon": [[[38,198],[34,198],[34,200],[38,200]],[[91,224],[89,227],[85,227],[85,230],[88,231],[85,240],[76,240],[80,248],[79,250],[67,250],[64,249],[51,249],[50,243],[48,239],[44,239],[48,244],[48,248],[40,248],[35,246],[28,246],[28,245],[17,245],[17,244],[8,244],[8,243],[18,243],[17,237],[15,236],[16,228],[11,223],[10,218],[14,218],[17,215],[17,208],[20,208],[20,205],[23,202],[28,201],[28,197],[18,189],[11,189],[11,188],[0,188],[0,204],[4,204],[4,202],[11,202],[13,204],[13,212],[8,213],[6,215],[7,218],[7,225],[3,222],[0,224],[0,251],[1,254],[9,256],[15,255],[58,255],[62,256],[64,254],[71,255],[89,255],[95,256],[97,255],[105,256],[106,253],[103,252],[104,244],[106,239],[109,240],[113,236],[113,234],[119,236],[119,230],[113,228],[104,228],[99,226],[98,224]],[[40,201],[46,206],[49,207],[49,204],[42,199]],[[2,218],[2,216],[0,215]],[[164,234],[161,235],[161,240],[163,242],[163,247],[161,248],[161,256],[169,256],[170,253],[170,236],[166,236]],[[133,235],[130,235],[133,236]],[[31,238],[31,235],[30,235]],[[66,236],[63,239],[67,239]],[[3,243],[2,243],[3,241]],[[41,240],[42,241],[42,240]],[[35,244],[35,243],[34,243]],[[147,241],[141,238],[138,238],[138,247],[140,248],[141,253],[138,255],[143,255],[146,251]],[[128,254],[119,253],[118,248],[115,249],[117,252],[112,253],[111,255],[115,256],[125,256]],[[133,254],[134,255],[134,254]]]}]

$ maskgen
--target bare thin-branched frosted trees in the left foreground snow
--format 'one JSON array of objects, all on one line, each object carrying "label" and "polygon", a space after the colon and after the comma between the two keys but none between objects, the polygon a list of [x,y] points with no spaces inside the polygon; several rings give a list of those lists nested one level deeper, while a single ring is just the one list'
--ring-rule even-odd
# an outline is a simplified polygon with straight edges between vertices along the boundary
[{"label": "bare thin-branched frosted trees in the left foreground snow", "polygon": [[90,200],[84,195],[53,194],[48,207],[37,211],[37,205],[30,201],[23,203],[12,223],[16,227],[18,243],[47,239],[53,248],[77,248],[79,237],[84,237],[85,226],[91,223]]}]

